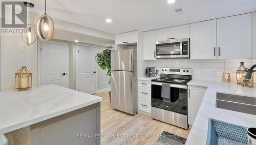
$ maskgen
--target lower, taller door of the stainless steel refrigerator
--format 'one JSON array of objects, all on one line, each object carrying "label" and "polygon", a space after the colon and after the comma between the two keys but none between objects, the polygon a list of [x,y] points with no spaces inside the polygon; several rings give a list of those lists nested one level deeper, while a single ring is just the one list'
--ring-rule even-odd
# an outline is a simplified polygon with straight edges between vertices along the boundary
[{"label": "lower, taller door of the stainless steel refrigerator", "polygon": [[134,74],[127,71],[111,71],[111,106],[134,114]]}]

